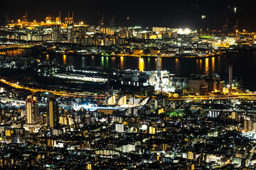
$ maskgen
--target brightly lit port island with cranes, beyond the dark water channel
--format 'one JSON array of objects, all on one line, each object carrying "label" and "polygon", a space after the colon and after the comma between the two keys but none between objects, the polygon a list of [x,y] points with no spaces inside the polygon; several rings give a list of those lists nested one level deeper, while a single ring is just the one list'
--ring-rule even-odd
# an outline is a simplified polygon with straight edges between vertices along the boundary
[{"label": "brightly lit port island with cranes, beyond the dark water channel", "polygon": [[[12,21],[6,14],[6,26],[1,28],[0,38],[24,40],[25,42],[68,42],[83,46],[126,45],[119,50],[117,50],[119,47],[113,48],[112,52],[107,54],[122,57],[125,55],[156,57],[157,53],[161,53],[161,57],[211,57],[220,55],[222,52],[219,51],[220,49],[232,51],[241,47],[240,45],[253,44],[255,46],[256,44],[255,41],[250,40],[250,38],[256,38],[255,33],[247,33],[245,30],[243,33],[238,31],[238,20],[233,26],[233,31],[228,30],[227,20],[223,31],[205,35],[202,31],[193,31],[188,28],[152,27],[151,30],[143,30],[138,26],[116,27],[114,16],[107,26],[104,15],[100,17],[97,26],[90,26],[83,22],[75,23],[74,12],[70,14],[70,11],[65,18],[61,18],[59,12],[57,17],[47,16],[46,20],[42,22],[29,22],[27,11],[17,22]],[[162,47],[156,47],[156,49],[154,47],[150,52],[146,52],[145,49],[149,45],[162,45]],[[63,49],[59,51],[63,51]],[[98,51],[100,50],[95,52],[91,49],[87,50],[86,54],[95,54]],[[99,54],[104,53],[99,52]]]}]

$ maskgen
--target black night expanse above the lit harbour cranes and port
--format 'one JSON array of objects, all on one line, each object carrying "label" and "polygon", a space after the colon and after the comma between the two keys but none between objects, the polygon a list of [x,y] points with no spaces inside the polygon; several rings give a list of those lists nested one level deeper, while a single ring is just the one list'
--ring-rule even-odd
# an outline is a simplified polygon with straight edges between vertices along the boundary
[{"label": "black night expanse above the lit harbour cranes and port", "polygon": [[[234,12],[237,7],[237,13]],[[95,25],[105,14],[107,25],[112,15],[116,16],[116,26],[166,26],[171,28],[191,29],[221,29],[228,18],[230,29],[239,19],[240,30],[256,31],[256,1],[206,1],[206,0],[178,0],[178,1],[87,1],[87,0],[5,0],[1,1],[0,23],[5,23],[5,13],[11,20],[17,21],[25,15],[28,9],[29,21],[45,21],[46,16],[68,16],[68,11],[74,11],[75,23],[83,21],[85,24]],[[206,19],[202,21],[201,16]],[[129,21],[127,21],[129,16]]]}]

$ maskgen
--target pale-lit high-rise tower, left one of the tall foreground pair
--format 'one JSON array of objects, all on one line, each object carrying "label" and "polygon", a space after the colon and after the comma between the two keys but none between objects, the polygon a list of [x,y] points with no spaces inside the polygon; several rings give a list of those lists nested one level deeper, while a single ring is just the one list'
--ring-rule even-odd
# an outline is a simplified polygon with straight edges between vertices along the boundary
[{"label": "pale-lit high-rise tower, left one of the tall foreground pair", "polygon": [[36,117],[38,115],[38,101],[35,96],[28,96],[26,99],[26,123],[36,124]]}]

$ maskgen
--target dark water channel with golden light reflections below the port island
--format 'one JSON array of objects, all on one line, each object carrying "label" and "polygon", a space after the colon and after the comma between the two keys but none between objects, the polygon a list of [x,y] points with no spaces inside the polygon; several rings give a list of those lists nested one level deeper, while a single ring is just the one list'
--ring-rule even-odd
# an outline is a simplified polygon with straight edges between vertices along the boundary
[{"label": "dark water channel with golden light reflections below the port island", "polygon": [[[100,57],[88,55],[46,55],[28,50],[13,50],[6,55],[26,55],[41,60],[50,60],[58,64],[70,64],[75,68],[91,65],[104,65],[106,68],[156,70],[156,58],[139,57]],[[245,89],[256,91],[256,52],[244,51],[229,53],[206,59],[172,58],[161,59],[161,69],[171,74],[219,74],[220,79],[228,82],[228,65],[233,64],[233,79],[242,79]]]}]

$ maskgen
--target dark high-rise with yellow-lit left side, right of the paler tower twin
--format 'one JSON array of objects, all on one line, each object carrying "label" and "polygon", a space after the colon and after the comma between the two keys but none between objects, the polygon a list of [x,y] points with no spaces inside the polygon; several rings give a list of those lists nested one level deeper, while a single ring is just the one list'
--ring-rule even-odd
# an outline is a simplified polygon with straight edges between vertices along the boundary
[{"label": "dark high-rise with yellow-lit left side, right of the paler tower twin", "polygon": [[58,125],[58,101],[49,98],[47,101],[47,127],[55,128]]}]

